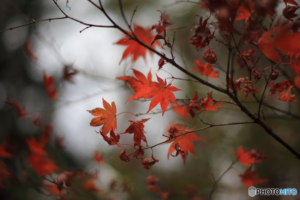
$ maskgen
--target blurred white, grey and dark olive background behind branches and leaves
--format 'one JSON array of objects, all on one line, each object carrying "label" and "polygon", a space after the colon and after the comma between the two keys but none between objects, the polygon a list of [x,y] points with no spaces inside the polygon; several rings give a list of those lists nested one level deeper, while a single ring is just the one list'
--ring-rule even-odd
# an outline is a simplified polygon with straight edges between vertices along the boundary
[{"label": "blurred white, grey and dark olive background behind branches and leaves", "polygon": [[[174,3],[172,0],[124,0],[123,7],[125,15],[130,19],[137,5],[137,12],[134,15],[134,23],[150,27],[158,23],[159,11],[165,11],[170,15],[173,22],[172,29],[176,29],[175,52],[176,62],[186,68],[196,67],[194,59],[204,62],[203,53],[207,50],[195,51],[195,47],[188,43],[192,35],[193,27],[199,23],[198,17],[204,18],[209,13],[202,10],[195,3]],[[61,8],[73,18],[85,23],[98,25],[111,25],[105,16],[88,1],[70,0],[66,7],[66,1],[58,1]],[[98,2],[97,2],[98,3]],[[104,8],[112,19],[125,28],[125,23],[119,9],[118,1],[103,1]],[[283,2],[277,7],[279,15],[284,8]],[[0,1],[0,30],[9,27],[19,26],[34,20],[64,17],[52,0],[1,0]],[[269,19],[263,23],[268,24]],[[283,20],[284,21],[284,20]],[[237,29],[243,29],[243,22],[236,23]],[[167,159],[167,150],[170,144],[163,144],[153,148],[154,157],[160,161],[152,166],[150,170],[142,168],[140,160],[132,160],[128,163],[119,159],[122,147],[111,146],[103,140],[98,127],[91,127],[89,123],[93,116],[86,110],[92,110],[102,106],[102,98],[107,102],[115,102],[117,113],[130,111],[132,113],[145,113],[148,110],[149,102],[132,100],[125,105],[125,102],[133,94],[130,87],[115,77],[132,75],[131,68],[137,69],[144,74],[150,70],[153,81],[156,81],[155,73],[159,77],[168,78],[170,74],[174,77],[187,78],[179,70],[170,64],[164,65],[165,71],[158,71],[158,56],[146,56],[132,63],[131,59],[121,61],[125,46],[114,43],[124,35],[117,29],[86,28],[85,25],[70,19],[52,20],[35,23],[22,28],[0,33],[0,143],[7,138],[17,141],[17,149],[26,148],[22,143],[24,137],[38,135],[39,132],[32,124],[32,119],[20,119],[12,106],[5,104],[5,101],[16,100],[26,107],[29,113],[41,116],[43,123],[50,122],[54,127],[53,138],[47,145],[47,150],[57,164],[65,170],[83,169],[84,171],[98,171],[97,186],[109,188],[114,180],[126,182],[128,191],[113,194],[115,199],[159,199],[150,192],[146,186],[146,177],[155,173],[162,178],[159,185],[164,190],[171,192],[170,199],[189,199],[188,186],[194,186],[196,194],[206,199],[213,186],[213,178],[217,179],[229,167],[235,157],[232,149],[237,150],[241,145],[246,150],[256,149],[259,153],[268,156],[260,164],[253,167],[258,169],[257,177],[268,178],[268,182],[257,185],[258,188],[296,188],[300,189],[300,163],[282,145],[266,134],[261,127],[254,124],[220,126],[205,129],[196,134],[204,138],[206,142],[196,141],[194,146],[197,158],[191,154],[187,157],[185,166],[180,156]],[[126,29],[126,28],[125,28]],[[173,30],[167,35],[172,41]],[[216,32],[221,38],[221,35]],[[30,42],[32,50],[38,60],[32,60],[26,50],[26,42]],[[211,41],[210,46],[217,46],[217,42]],[[260,55],[259,50],[254,60]],[[167,48],[166,48],[167,49]],[[250,49],[244,44],[241,49]],[[217,66],[226,68],[227,50],[222,44],[214,48],[218,61]],[[164,52],[170,57],[169,49],[158,51]],[[236,52],[235,52],[236,53]],[[73,78],[73,83],[62,81],[65,65],[72,65],[78,70]],[[265,68],[271,63],[264,57],[260,59],[255,69]],[[234,59],[235,76],[244,77],[247,75],[246,68],[240,68]],[[168,74],[167,72],[170,74]],[[50,101],[44,90],[43,72],[53,76],[59,91],[58,99]],[[196,71],[193,71],[197,73]],[[288,75],[295,74],[287,71]],[[197,75],[199,75],[197,73]],[[201,75],[199,75],[201,76]],[[208,78],[210,83],[222,86],[225,83],[225,73],[221,71],[221,79]],[[206,77],[203,77],[204,79]],[[280,81],[286,80],[279,77]],[[171,79],[167,79],[169,83]],[[279,82],[279,81],[278,81]],[[199,97],[206,97],[206,92],[211,91],[206,86],[189,81],[174,80],[173,86],[184,91],[175,92],[176,98],[191,98],[197,90]],[[263,88],[264,83],[257,83],[255,88]],[[259,92],[258,95],[261,95]],[[254,98],[249,95],[244,99],[244,94],[238,92],[239,98],[250,109],[257,112],[258,105]],[[299,94],[296,94],[297,98]],[[213,92],[214,99],[229,101],[226,96]],[[299,114],[296,103],[288,107],[287,102],[280,102],[272,96],[265,98],[269,104]],[[299,120],[285,116],[277,111],[271,111],[262,107],[268,125],[283,140],[300,151],[299,144]],[[159,111],[159,106],[153,111]],[[202,116],[202,113],[199,114]],[[172,110],[167,111],[162,117],[160,113],[139,116],[137,119],[151,118],[145,123],[145,131],[149,145],[154,145],[165,140],[162,134],[167,133],[171,123],[183,123],[183,119]],[[239,111],[234,105],[222,104],[220,111],[210,111],[203,118],[212,124],[232,123],[250,121],[250,119]],[[124,132],[129,126],[128,120],[133,120],[131,114],[121,114],[117,117],[117,133]],[[202,128],[197,118],[185,122],[188,127]],[[55,147],[55,137],[64,138],[64,149],[58,150]],[[122,144],[133,144],[133,135],[121,135]],[[95,150],[104,153],[105,163],[99,165],[93,158]],[[151,150],[145,152],[145,157],[150,157]],[[19,161],[11,161],[15,171],[21,171]],[[248,195],[248,188],[241,183],[238,174],[246,170],[246,166],[236,164],[234,169],[229,170],[218,183],[218,187],[212,195],[212,199],[299,199],[296,196],[255,196]],[[17,177],[18,175],[16,175]],[[16,183],[18,182],[18,183]],[[22,181],[9,183],[7,188],[1,189],[2,199],[52,199],[32,189]],[[95,194],[90,198],[102,198]],[[80,198],[79,198],[80,199]]]}]

